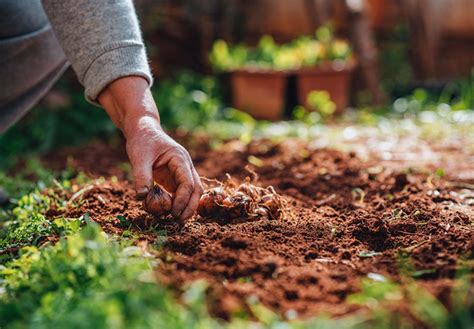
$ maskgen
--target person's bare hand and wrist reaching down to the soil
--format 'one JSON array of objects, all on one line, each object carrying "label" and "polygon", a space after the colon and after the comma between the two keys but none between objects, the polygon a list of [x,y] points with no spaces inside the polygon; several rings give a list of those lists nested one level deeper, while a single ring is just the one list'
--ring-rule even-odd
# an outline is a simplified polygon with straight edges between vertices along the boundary
[{"label": "person's bare hand and wrist reaching down to the soil", "polygon": [[141,77],[115,80],[99,95],[112,121],[125,135],[137,197],[143,199],[154,181],[174,196],[171,213],[185,221],[203,192],[189,153],[161,128],[148,83]]}]

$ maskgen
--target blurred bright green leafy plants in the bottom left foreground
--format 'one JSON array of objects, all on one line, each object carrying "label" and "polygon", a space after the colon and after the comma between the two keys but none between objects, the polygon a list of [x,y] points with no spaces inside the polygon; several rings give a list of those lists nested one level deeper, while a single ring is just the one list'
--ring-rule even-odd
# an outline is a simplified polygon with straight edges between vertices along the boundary
[{"label": "blurred bright green leafy plants in the bottom left foreground", "polygon": [[23,249],[0,270],[0,325],[36,328],[213,328],[203,290],[174,301],[139,248],[107,241],[96,224],[57,245]]}]

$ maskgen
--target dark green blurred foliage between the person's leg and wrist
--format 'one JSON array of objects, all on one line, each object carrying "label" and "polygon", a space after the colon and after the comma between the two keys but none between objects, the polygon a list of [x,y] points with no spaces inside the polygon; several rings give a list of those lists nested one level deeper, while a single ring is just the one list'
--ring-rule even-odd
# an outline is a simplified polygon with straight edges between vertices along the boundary
[{"label": "dark green blurred foliage between the person's leg and wrist", "polygon": [[0,169],[12,166],[20,154],[44,154],[61,146],[79,145],[92,137],[107,139],[116,128],[105,111],[84,99],[81,88],[68,77],[19,123],[0,135]]}]

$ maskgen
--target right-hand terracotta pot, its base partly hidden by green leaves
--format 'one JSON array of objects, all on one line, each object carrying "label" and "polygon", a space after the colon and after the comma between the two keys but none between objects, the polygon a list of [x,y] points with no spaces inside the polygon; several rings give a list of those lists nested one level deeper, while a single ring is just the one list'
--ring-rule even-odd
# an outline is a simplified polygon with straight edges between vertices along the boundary
[{"label": "right-hand terracotta pot, its base partly hidden by green leaves", "polygon": [[313,90],[326,90],[336,104],[336,114],[342,113],[349,104],[349,87],[355,61],[345,64],[324,63],[313,68],[302,68],[296,72],[298,102],[310,108],[306,102]]}]

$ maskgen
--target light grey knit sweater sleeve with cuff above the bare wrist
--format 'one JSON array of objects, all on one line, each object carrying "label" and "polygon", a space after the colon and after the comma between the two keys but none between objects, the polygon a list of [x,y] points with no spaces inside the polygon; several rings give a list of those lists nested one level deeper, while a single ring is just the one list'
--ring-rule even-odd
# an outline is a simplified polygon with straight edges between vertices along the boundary
[{"label": "light grey knit sweater sleeve with cuff above the bare wrist", "polygon": [[43,0],[43,7],[87,100],[97,104],[100,92],[125,76],[152,84],[132,0]]}]

